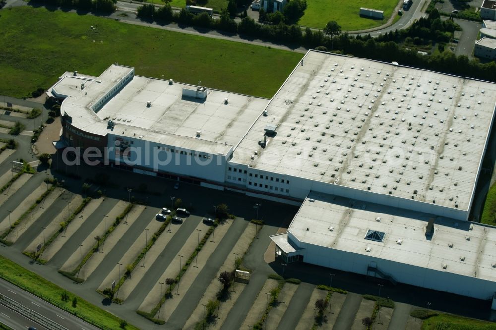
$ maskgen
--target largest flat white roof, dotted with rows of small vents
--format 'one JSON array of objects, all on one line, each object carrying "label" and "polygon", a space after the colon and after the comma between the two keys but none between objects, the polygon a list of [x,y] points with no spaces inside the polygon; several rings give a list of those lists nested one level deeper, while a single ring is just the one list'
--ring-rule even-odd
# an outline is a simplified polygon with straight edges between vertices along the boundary
[{"label": "largest flat white roof, dotted with rows of small vents", "polygon": [[495,102],[493,83],[309,51],[232,162],[468,210]]}]

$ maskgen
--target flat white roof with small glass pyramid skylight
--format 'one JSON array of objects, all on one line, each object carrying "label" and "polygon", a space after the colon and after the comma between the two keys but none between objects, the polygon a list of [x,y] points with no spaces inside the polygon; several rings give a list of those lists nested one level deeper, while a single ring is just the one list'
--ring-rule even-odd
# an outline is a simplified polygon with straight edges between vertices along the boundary
[{"label": "flat white roof with small glass pyramid skylight", "polygon": [[[425,227],[430,217],[312,192],[288,232],[308,244],[496,280],[495,227],[439,217],[434,221],[434,235],[428,239]],[[369,229],[385,233],[383,241],[365,239]],[[442,268],[444,264],[446,269]]]}]

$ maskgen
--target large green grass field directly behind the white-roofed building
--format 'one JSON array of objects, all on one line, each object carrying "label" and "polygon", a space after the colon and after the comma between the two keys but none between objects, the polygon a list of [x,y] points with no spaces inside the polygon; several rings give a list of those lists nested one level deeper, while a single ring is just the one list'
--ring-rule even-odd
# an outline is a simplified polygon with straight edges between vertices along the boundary
[{"label": "large green grass field directly behind the white-roofed building", "polygon": [[[90,29],[96,26],[96,29]],[[24,97],[65,71],[136,74],[270,98],[302,54],[29,6],[0,12],[0,95]]]}]

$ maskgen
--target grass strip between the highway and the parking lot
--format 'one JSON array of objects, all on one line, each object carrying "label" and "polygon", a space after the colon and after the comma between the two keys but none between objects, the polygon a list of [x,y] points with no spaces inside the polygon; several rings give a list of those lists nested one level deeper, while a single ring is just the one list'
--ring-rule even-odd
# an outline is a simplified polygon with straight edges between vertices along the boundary
[{"label": "grass strip between the highway and the parking lot", "polygon": [[[76,297],[77,307],[72,307],[70,300],[62,302],[61,294],[65,292],[64,289],[2,256],[0,256],[0,277],[100,329],[120,329],[123,320],[117,316],[80,297]],[[138,330],[129,324],[125,329]]]}]

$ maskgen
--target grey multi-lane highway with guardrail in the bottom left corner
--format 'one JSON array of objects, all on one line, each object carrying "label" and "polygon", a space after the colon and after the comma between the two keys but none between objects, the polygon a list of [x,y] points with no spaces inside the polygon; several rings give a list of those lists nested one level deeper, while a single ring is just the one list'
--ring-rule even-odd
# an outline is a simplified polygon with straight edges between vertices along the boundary
[{"label": "grey multi-lane highway with guardrail in the bottom left corner", "polygon": [[[0,279],[0,293],[8,298],[15,300],[17,303],[27,307],[44,317],[58,323],[59,325],[70,330],[98,330],[98,328],[84,322],[78,317],[62,311],[60,308],[38,298],[21,288]],[[69,293],[70,295],[70,293]],[[71,302],[67,302],[70,304]],[[12,311],[11,309],[0,304],[0,322],[14,330],[25,330],[29,327],[35,327],[37,330],[46,328],[25,318],[24,316]]]}]

